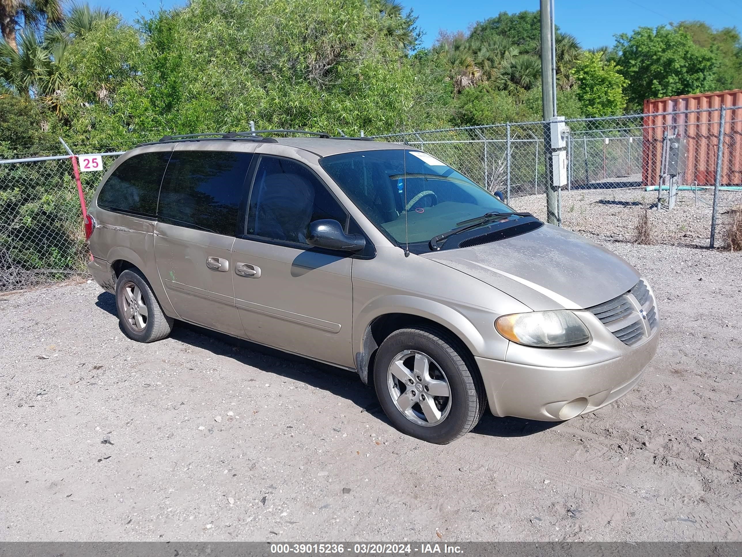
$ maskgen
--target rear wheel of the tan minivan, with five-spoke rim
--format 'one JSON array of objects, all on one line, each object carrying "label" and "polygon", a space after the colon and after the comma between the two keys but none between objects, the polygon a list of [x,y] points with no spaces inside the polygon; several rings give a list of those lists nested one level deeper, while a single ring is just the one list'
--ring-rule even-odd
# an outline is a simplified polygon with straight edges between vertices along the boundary
[{"label": "rear wheel of the tan minivan, with five-spoke rim", "polygon": [[[129,300],[134,297],[143,302],[146,316],[134,312]],[[141,307],[137,304],[136,307]],[[139,269],[127,269],[116,280],[116,311],[126,336],[137,342],[154,342],[164,339],[173,330],[173,319],[165,315],[152,289]]]}]

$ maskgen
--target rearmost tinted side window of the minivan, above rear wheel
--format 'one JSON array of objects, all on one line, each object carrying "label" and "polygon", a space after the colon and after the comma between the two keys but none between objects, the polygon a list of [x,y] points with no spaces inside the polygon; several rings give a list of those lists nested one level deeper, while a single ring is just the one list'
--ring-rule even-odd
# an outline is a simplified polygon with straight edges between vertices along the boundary
[{"label": "rearmost tinted side window of the minivan, above rear wheel", "polygon": [[134,215],[157,214],[157,195],[170,152],[137,154],[125,160],[108,177],[98,195],[98,206]]}]

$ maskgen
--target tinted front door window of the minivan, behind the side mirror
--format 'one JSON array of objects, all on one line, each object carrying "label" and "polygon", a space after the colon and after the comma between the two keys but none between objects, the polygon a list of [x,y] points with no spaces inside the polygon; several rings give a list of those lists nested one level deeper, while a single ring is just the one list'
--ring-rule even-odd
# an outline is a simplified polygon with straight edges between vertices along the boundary
[{"label": "tinted front door window of the minivan, behind the side mirror", "polygon": [[306,244],[312,221],[333,218],[345,225],[347,218],[306,166],[278,157],[260,158],[248,215],[248,234],[299,244]]}]

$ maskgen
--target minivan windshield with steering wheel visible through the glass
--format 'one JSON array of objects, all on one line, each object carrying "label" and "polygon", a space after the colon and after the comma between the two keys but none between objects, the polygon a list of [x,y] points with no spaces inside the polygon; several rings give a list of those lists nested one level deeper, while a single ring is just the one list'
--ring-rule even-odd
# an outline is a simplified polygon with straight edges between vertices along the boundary
[{"label": "minivan windshield with steering wheel visible through the glass", "polygon": [[427,243],[467,219],[513,210],[421,151],[335,154],[320,163],[358,209],[398,244]]}]

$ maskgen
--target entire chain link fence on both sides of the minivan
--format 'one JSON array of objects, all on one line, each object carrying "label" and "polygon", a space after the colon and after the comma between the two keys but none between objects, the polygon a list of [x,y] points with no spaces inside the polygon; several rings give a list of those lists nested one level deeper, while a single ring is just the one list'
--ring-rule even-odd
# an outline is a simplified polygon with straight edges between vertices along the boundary
[{"label": "entire chain link fence on both sides of the minivan", "polygon": [[[566,123],[567,179],[557,198],[561,226],[615,241],[742,249],[742,107]],[[515,209],[546,220],[545,125],[375,139],[433,154],[490,191],[502,191]],[[105,172],[119,152],[134,146],[129,143],[73,151],[103,152]],[[0,159],[0,292],[82,275],[89,258],[70,157],[32,154]],[[86,200],[101,176],[81,173]]]}]

